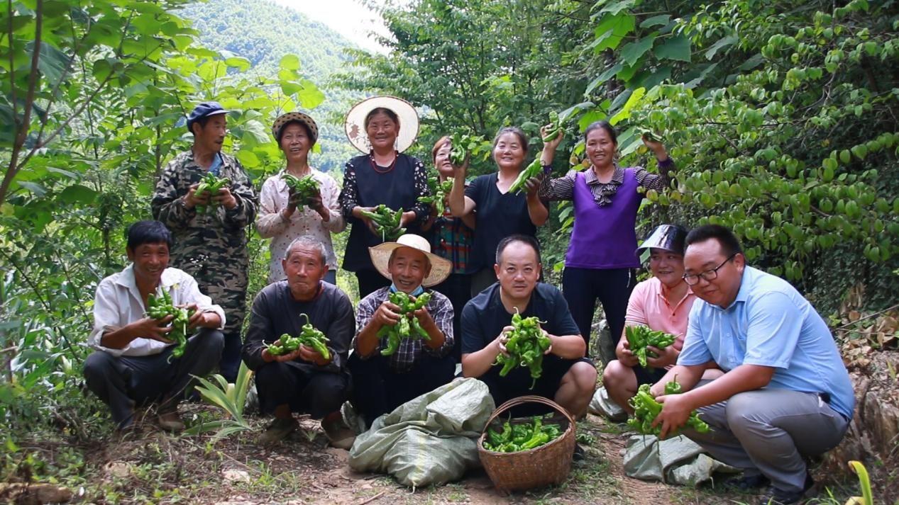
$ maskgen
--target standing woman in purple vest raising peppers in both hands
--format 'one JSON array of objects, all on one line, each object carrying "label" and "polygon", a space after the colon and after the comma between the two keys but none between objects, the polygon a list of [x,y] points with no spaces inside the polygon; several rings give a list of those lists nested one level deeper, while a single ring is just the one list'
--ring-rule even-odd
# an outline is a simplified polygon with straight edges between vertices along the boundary
[{"label": "standing woman in purple vest raising peppers in both hands", "polygon": [[[561,140],[562,135],[558,135],[543,146],[545,167],[552,164]],[[544,178],[539,196],[574,202],[574,230],[565,253],[562,291],[588,347],[596,300],[601,301],[612,335],[609,342],[600,343],[602,361],[607,362],[615,359],[615,344],[624,328],[628,297],[636,284],[634,269],[640,266],[634,255],[635,226],[643,195],[636,189],[663,191],[668,187],[668,170],[673,162],[661,143],[644,137],[643,143],[658,161],[659,173],[651,174],[643,167],[619,167],[618,138],[606,121],[587,126],[583,142],[590,169]]]}]

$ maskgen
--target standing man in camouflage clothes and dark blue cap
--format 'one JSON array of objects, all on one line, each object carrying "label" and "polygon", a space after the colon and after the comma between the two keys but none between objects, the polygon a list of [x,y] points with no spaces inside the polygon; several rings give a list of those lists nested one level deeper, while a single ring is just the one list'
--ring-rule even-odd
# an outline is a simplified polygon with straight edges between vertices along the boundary
[{"label": "standing man in camouflage clothes and dark blue cap", "polygon": [[[226,113],[214,101],[193,109],[187,120],[194,139],[191,151],[178,154],[166,165],[151,205],[153,217],[174,236],[172,266],[191,274],[200,291],[226,311],[225,350],[219,368],[233,382],[240,366],[240,330],[246,313],[245,228],[254,222],[258,202],[240,162],[221,152]],[[200,178],[208,171],[230,182],[217,195],[196,195]],[[198,213],[198,205],[205,205],[207,212]]]}]

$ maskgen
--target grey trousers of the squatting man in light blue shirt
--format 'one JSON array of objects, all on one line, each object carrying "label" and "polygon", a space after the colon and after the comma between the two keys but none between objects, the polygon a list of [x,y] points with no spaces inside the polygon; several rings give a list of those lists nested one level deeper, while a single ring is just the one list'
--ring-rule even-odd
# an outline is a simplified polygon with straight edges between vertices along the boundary
[{"label": "grey trousers of the squatting man in light blue shirt", "polygon": [[683,434],[745,475],[765,475],[780,490],[801,492],[804,456],[836,447],[849,421],[815,393],[789,389],[746,391],[699,408],[711,430]]}]

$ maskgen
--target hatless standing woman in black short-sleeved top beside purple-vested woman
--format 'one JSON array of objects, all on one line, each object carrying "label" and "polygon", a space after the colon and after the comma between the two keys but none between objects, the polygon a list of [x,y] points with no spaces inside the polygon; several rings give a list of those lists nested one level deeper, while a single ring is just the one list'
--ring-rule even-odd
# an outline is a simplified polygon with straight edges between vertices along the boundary
[{"label": "hatless standing woman in black short-sleeved top beside purple-vested woman", "polygon": [[496,282],[494,259],[500,240],[516,234],[534,237],[537,227],[549,217],[547,206],[537,196],[537,178],[528,181],[525,194],[509,192],[528,155],[524,132],[513,126],[501,129],[494,138],[493,153],[497,167],[494,173],[478,176],[466,187],[466,163],[457,168],[449,193],[454,216],[475,213],[475,239],[468,266],[473,297]]}]

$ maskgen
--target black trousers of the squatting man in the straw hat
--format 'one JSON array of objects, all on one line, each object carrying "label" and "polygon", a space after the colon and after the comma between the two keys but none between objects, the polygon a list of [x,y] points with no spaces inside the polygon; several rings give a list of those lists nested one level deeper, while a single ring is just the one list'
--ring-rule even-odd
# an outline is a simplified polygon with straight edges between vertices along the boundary
[{"label": "black trousers of the squatting man in the straw hat", "polygon": [[407,372],[391,370],[390,357],[378,352],[367,360],[352,353],[347,364],[352,374],[352,404],[368,423],[416,396],[448,384],[456,371],[452,356],[435,358],[427,353],[422,353]]}]

